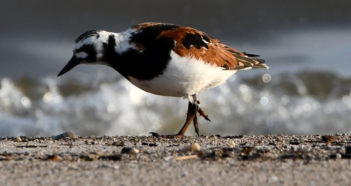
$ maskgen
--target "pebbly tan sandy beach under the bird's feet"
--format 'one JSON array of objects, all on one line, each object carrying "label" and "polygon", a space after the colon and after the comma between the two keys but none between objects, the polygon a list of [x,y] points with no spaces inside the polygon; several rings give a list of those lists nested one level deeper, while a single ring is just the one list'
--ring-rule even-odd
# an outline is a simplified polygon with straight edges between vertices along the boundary
[{"label": "pebbly tan sandy beach under the bird's feet", "polygon": [[1,185],[350,185],[335,135],[1,137]]}]

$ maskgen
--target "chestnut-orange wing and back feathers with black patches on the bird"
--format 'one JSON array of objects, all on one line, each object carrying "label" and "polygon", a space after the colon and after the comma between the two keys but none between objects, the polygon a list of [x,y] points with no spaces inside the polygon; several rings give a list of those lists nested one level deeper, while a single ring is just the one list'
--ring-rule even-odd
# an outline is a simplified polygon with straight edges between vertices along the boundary
[{"label": "chestnut-orange wing and back feathers with black patches on the bird", "polygon": [[[145,28],[160,25],[172,26],[163,23],[143,23],[135,27]],[[202,59],[204,62],[217,65],[224,70],[268,68],[262,64],[265,60],[255,58],[257,55],[239,52],[194,28],[174,25],[174,27],[161,31],[157,37],[173,38],[176,44],[172,50],[181,57]]]}]

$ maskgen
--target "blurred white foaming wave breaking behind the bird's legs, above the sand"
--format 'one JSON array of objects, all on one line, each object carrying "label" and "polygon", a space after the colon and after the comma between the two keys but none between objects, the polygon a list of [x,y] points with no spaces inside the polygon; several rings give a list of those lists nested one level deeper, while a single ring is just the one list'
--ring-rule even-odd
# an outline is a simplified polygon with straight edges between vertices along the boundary
[{"label": "blurred white foaming wave breaking behind the bird's legs, above the sand", "polygon": [[[264,74],[240,78],[204,92],[198,99],[212,122],[199,118],[205,135],[351,133],[351,79],[326,72]],[[187,101],[157,96],[126,79],[48,76],[3,78],[0,136],[177,133]],[[195,135],[190,127],[186,135]]]}]

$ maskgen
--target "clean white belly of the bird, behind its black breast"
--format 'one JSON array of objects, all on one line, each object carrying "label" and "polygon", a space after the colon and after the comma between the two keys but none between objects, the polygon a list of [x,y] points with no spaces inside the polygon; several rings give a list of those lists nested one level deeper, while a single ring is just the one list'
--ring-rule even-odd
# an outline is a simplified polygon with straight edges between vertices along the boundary
[{"label": "clean white belly of the bird, behind its black breast", "polygon": [[182,97],[218,86],[236,72],[194,58],[179,57],[173,51],[171,57],[166,70],[159,77],[150,81],[129,77],[129,81],[152,94]]}]

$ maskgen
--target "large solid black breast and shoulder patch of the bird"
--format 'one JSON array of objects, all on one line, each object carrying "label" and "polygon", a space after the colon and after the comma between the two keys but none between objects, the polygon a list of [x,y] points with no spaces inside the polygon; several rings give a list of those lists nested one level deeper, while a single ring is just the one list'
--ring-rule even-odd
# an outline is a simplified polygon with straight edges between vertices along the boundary
[{"label": "large solid black breast and shoulder patch of the bird", "polygon": [[[116,53],[110,47],[115,40],[109,37],[108,44],[104,45],[106,61],[122,76],[139,80],[151,80],[163,74],[171,59],[170,52],[174,48],[174,39],[160,37],[162,31],[178,28],[178,25],[160,24],[141,28],[140,32],[132,33],[130,43],[143,45],[144,50],[127,50],[122,54]],[[114,38],[113,38],[114,39]]]}]

